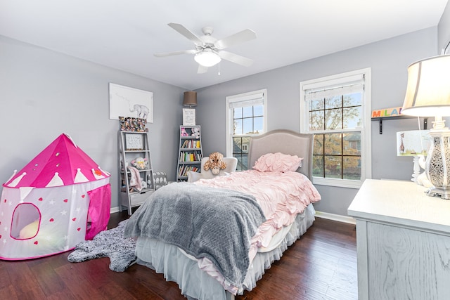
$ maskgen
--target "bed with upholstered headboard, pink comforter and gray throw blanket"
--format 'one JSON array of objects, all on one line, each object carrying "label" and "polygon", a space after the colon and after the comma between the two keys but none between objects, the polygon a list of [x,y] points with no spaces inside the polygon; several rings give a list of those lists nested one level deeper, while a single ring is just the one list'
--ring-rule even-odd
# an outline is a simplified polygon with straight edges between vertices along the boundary
[{"label": "bed with upholstered headboard, pink comforter and gray throw blanket", "polygon": [[[250,143],[248,165],[259,166],[259,171],[160,188],[130,217],[125,229],[125,235],[137,238],[137,263],[176,282],[188,299],[234,299],[253,289],[264,270],[314,222],[312,203],[320,195],[309,181],[311,159],[311,135],[270,131]],[[294,162],[290,171],[279,165],[281,161]],[[293,190],[290,185],[295,185]],[[287,199],[278,200],[282,197]],[[181,198],[188,198],[188,203]],[[216,206],[226,207],[226,214]],[[186,210],[196,207],[200,210]],[[202,223],[195,223],[199,218]],[[204,230],[210,222],[212,227]],[[180,224],[186,232],[179,233]]]}]

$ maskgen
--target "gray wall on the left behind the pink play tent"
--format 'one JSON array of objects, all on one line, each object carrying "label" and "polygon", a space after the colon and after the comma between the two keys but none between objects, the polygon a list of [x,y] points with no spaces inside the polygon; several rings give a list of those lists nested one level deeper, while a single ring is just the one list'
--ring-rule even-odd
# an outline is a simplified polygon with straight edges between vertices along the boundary
[{"label": "gray wall on the left behind the pink play tent", "polygon": [[153,92],[153,167],[173,180],[183,89],[0,36],[1,183],[68,133],[111,173],[117,207],[119,121],[109,119],[109,82]]}]

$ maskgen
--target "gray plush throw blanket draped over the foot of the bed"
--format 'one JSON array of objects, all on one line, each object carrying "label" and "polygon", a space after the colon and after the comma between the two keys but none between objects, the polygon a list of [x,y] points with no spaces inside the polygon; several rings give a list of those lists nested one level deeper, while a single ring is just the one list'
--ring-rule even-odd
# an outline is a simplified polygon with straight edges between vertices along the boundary
[{"label": "gray plush throw blanket draped over the foot of the bed", "polygon": [[124,237],[145,236],[207,257],[226,280],[243,287],[250,240],[266,221],[255,197],[193,183],[158,189],[130,217]]}]

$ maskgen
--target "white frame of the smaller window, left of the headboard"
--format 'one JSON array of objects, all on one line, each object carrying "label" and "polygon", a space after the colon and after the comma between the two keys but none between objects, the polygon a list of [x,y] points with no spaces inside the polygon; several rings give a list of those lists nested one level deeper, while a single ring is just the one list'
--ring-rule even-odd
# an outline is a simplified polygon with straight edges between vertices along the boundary
[{"label": "white frame of the smaller window, left of the headboard", "polygon": [[[250,91],[248,93],[240,93],[233,96],[226,96],[226,157],[233,156],[233,108],[231,108],[232,103],[238,102],[248,102],[252,103],[255,99],[262,98],[263,101],[263,132],[267,132],[267,89],[261,89],[258,91]],[[260,133],[260,134],[262,134]],[[259,134],[245,134],[242,136],[258,136]],[[236,135],[241,136],[241,135]],[[252,166],[248,166],[249,169]]]}]

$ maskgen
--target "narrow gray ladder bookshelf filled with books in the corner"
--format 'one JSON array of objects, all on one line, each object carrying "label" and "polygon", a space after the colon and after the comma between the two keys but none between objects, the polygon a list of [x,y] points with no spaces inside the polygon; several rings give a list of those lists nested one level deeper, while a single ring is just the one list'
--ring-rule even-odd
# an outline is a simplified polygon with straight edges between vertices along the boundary
[{"label": "narrow gray ladder bookshelf filled with books in the corner", "polygon": [[186,181],[188,179],[188,171],[200,172],[202,158],[203,150],[200,126],[180,126],[176,181]]}]

